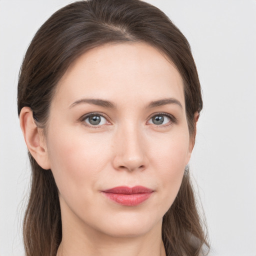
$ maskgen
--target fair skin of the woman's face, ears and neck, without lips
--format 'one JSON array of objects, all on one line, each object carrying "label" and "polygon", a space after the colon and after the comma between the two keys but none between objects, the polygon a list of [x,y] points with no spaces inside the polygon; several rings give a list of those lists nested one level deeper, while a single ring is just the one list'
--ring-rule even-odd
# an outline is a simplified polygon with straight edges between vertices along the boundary
[{"label": "fair skin of the woman's face, ears and neck, without lips", "polygon": [[[85,98],[114,107],[80,101]],[[172,101],[149,107],[167,98]],[[91,112],[104,116],[98,125],[89,123]],[[153,122],[157,114],[162,124]],[[59,189],[63,237],[57,255],[165,255],[162,217],[178,192],[193,142],[182,78],[162,53],[145,43],[85,52],[58,82],[45,132],[28,107],[20,125],[29,151],[52,170]],[[137,206],[120,205],[101,192],[135,185],[153,190]]]}]

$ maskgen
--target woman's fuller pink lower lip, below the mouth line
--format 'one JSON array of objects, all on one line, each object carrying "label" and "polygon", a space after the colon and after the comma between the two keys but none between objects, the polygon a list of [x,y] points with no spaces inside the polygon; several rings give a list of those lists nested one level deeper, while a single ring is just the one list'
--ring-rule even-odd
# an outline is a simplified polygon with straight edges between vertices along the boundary
[{"label": "woman's fuller pink lower lip, below the mouth line", "polygon": [[102,192],[110,200],[125,206],[136,206],[150,197],[152,192],[136,194],[117,194]]}]

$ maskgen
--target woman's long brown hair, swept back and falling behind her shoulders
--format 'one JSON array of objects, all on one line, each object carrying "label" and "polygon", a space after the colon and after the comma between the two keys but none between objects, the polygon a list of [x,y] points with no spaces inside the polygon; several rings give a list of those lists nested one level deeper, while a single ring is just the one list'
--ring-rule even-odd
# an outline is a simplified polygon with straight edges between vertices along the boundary
[{"label": "woman's long brown hair, swept back and falling behind her shoulders", "polygon": [[[140,0],[84,0],[56,11],[26,51],[18,80],[18,114],[29,106],[36,123],[45,129],[56,84],[70,63],[90,48],[126,41],[146,42],[176,66],[183,79],[188,129],[194,139],[194,113],[200,112],[202,99],[190,46],[161,10]],[[28,155],[32,179],[23,222],[25,253],[55,256],[62,236],[58,189],[51,170],[42,169]],[[162,239],[167,255],[198,256],[208,247],[188,170],[163,216]]]}]

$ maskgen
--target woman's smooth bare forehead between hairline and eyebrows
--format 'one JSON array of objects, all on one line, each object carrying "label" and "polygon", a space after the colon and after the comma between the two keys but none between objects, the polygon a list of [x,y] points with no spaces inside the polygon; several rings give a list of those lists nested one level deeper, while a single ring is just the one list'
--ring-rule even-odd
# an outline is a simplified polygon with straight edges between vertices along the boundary
[{"label": "woman's smooth bare forehead between hairline and eyebrows", "polygon": [[82,97],[125,102],[176,97],[184,102],[182,78],[158,49],[146,43],[112,43],[80,55],[59,80],[55,97],[67,103]]}]

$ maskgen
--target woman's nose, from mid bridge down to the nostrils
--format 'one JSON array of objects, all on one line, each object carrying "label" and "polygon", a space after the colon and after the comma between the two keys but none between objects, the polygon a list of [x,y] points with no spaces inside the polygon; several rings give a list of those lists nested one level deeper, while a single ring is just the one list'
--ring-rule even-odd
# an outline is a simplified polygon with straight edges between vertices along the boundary
[{"label": "woman's nose, from mid bridge down to the nostrils", "polygon": [[141,131],[134,127],[119,129],[114,139],[113,166],[116,170],[144,170],[148,165],[146,144]]}]

